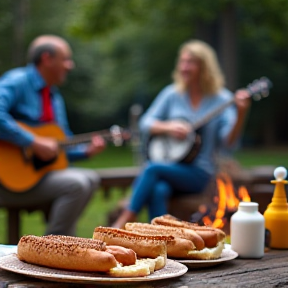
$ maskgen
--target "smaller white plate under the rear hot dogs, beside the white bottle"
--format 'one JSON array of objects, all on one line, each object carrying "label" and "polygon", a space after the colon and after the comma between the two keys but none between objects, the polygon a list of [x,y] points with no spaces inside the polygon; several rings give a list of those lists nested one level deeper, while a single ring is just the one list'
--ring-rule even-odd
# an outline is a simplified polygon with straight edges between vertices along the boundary
[{"label": "smaller white plate under the rear hot dogs, beside the white bottle", "polygon": [[231,245],[225,244],[221,257],[214,260],[177,260],[188,268],[205,268],[215,266],[226,261],[231,261],[238,257],[238,253],[231,249]]}]

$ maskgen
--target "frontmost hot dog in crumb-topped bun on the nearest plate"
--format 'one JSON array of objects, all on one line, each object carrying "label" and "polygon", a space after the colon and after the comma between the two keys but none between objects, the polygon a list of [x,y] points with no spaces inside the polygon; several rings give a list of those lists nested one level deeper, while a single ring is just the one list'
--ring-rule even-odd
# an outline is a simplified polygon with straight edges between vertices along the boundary
[{"label": "frontmost hot dog in crumb-topped bun on the nearest plate", "polygon": [[[157,241],[156,241],[157,242]],[[106,272],[112,277],[142,277],[165,266],[164,257],[137,259],[136,253],[102,240],[70,236],[23,236],[18,258],[30,264],[56,269]]]}]

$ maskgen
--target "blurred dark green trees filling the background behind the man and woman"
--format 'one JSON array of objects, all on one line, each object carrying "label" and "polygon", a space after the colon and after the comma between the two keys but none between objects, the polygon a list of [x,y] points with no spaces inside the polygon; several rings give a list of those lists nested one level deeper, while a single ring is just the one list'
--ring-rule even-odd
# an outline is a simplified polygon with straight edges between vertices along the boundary
[{"label": "blurred dark green trees filling the background behind the man and woman", "polygon": [[[76,69],[61,87],[75,133],[127,126],[171,82],[177,51],[198,38],[217,51],[232,91],[268,77],[268,98],[253,102],[243,147],[288,142],[286,0],[1,0],[0,74],[26,64],[40,34],[66,38]],[[81,119],[79,121],[79,119]]]}]

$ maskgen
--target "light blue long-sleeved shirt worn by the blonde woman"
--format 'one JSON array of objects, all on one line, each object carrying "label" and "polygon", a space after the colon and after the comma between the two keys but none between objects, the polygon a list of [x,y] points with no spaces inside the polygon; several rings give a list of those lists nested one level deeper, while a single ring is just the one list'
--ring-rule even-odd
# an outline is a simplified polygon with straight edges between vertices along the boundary
[{"label": "light blue long-sleeved shirt worn by the blonde woman", "polygon": [[[203,119],[209,111],[229,102],[233,94],[223,88],[215,95],[209,95],[202,99],[196,109],[191,106],[187,93],[179,93],[174,85],[165,87],[155,98],[146,113],[140,118],[140,130],[143,135],[149,135],[150,128],[155,120],[183,119],[195,123]],[[197,165],[209,174],[215,173],[214,156],[217,151],[231,153],[239,144],[227,147],[226,139],[237,120],[237,109],[235,105],[225,108],[200,129],[202,144],[197,157],[190,165]]]}]

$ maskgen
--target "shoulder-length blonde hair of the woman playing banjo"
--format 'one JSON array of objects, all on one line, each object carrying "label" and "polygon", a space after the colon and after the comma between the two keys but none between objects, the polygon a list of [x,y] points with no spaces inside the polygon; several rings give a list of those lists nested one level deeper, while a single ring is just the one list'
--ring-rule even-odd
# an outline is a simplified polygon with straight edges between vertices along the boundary
[{"label": "shoulder-length blonde hair of the woman playing banjo", "polygon": [[[200,86],[203,94],[217,93],[224,86],[225,80],[214,49],[200,40],[188,41],[181,45],[177,62],[184,51],[189,52],[200,60]],[[177,65],[173,72],[173,79],[179,91],[184,92],[187,90],[188,87],[182,80]]]}]

